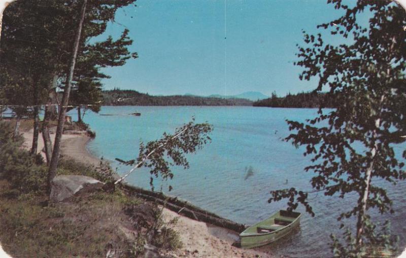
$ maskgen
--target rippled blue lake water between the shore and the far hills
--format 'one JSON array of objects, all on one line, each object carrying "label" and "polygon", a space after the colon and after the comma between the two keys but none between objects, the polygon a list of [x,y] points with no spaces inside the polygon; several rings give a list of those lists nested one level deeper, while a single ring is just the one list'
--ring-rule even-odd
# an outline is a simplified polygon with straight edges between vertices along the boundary
[{"label": "rippled blue lake water between the shore and the far hills", "polygon": [[[128,116],[133,112],[141,117]],[[87,113],[84,121],[96,131],[96,138],[88,144],[91,153],[112,160],[120,174],[129,170],[114,162],[115,158],[137,158],[140,141],[160,138],[163,132],[173,133],[194,116],[196,122],[209,122],[214,126],[212,142],[203,150],[187,156],[190,169],[173,168],[175,177],[170,181],[178,196],[201,208],[215,212],[236,222],[252,225],[278,209],[286,201],[268,204],[269,191],[296,187],[310,190],[313,173],[303,172],[310,158],[303,157],[303,148],[296,149],[282,138],[290,132],[286,119],[304,121],[313,118],[317,109],[261,108],[261,107],[195,107],[195,106],[104,106],[99,116]],[[75,112],[71,112],[75,116]],[[396,146],[401,153],[405,145]],[[246,178],[247,170],[253,174]],[[149,189],[147,169],[136,170],[127,178],[132,185]],[[382,182],[384,183],[384,182]],[[155,191],[167,193],[168,182],[154,179]],[[400,237],[400,247],[406,245],[406,215],[404,182],[387,185],[393,199],[395,214],[385,215],[392,223],[392,233]],[[277,254],[292,257],[325,257],[330,255],[329,235],[341,235],[336,217],[350,210],[357,196],[345,199],[325,197],[322,193],[310,196],[316,213],[311,217],[302,212],[300,229],[291,237],[262,247]],[[345,221],[354,225],[354,218]]]}]

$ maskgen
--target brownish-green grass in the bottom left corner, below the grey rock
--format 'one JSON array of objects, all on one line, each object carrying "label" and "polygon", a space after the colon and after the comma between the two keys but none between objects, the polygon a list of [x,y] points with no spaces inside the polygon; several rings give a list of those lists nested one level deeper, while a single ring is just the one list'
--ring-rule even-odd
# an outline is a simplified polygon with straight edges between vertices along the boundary
[{"label": "brownish-green grass in the bottom left corner, below the grey rock", "polygon": [[[117,194],[42,206],[32,201],[1,201],[0,236],[13,257],[105,257],[106,248],[131,255],[120,230],[127,200]],[[41,198],[39,198],[41,199]],[[127,227],[131,227],[128,223]]]}]

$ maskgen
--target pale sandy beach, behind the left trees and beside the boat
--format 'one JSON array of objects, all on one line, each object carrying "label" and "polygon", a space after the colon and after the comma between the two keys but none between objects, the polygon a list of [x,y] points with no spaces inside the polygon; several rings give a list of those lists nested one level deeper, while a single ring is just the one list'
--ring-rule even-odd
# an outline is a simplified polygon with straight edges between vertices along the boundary
[{"label": "pale sandy beach, behind the left trees and beside the boat", "polygon": [[[24,148],[31,148],[32,132],[32,129],[23,132],[25,138]],[[51,140],[53,141],[54,138],[55,134],[51,133]],[[86,144],[89,140],[90,137],[84,132],[63,134],[61,155],[86,164],[99,164],[100,160],[87,151]],[[38,153],[41,153],[45,159],[45,154],[42,152],[43,148],[44,141],[40,134]],[[232,243],[238,239],[238,233],[236,232],[198,222],[174,211],[163,209],[163,219],[166,222],[174,217],[179,218],[172,228],[180,233],[183,247],[175,252],[167,253],[168,255],[175,257],[273,257],[268,253],[232,246]]]}]

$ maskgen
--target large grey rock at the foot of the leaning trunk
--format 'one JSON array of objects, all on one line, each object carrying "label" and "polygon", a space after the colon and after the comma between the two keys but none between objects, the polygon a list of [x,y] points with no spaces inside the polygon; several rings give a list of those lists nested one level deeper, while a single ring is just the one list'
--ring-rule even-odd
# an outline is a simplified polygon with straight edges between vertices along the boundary
[{"label": "large grey rock at the foot of the leaning trunk", "polygon": [[50,201],[61,202],[75,194],[92,192],[103,187],[104,183],[85,175],[59,175],[52,180]]}]

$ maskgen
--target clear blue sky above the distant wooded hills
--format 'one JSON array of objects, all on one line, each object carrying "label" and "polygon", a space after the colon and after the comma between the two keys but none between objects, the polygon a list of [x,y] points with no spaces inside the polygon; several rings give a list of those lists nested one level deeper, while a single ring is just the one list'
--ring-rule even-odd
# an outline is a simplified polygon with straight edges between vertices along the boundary
[{"label": "clear blue sky above the distant wooded hills", "polygon": [[[354,3],[355,1],[350,1]],[[258,91],[279,96],[316,88],[300,81],[295,66],[302,29],[340,17],[325,0],[138,0],[119,10],[105,35],[124,28],[139,58],[103,71],[105,89],[151,95],[234,95]],[[329,42],[340,42],[323,33]]]}]

